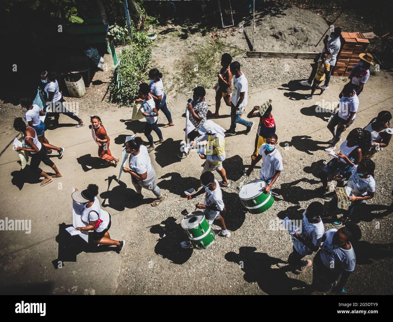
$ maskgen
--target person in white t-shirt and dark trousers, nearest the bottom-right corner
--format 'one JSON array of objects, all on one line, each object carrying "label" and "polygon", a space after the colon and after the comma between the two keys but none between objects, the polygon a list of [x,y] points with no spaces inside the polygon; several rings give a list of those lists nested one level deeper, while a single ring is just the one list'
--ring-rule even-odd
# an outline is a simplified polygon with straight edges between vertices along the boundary
[{"label": "person in white t-shirt and dark trousers, nearest the bottom-right corner", "polygon": [[325,231],[321,250],[314,257],[312,290],[347,292],[344,285],[356,265],[351,241],[360,239],[361,235],[360,228],[351,223],[338,230]]}]

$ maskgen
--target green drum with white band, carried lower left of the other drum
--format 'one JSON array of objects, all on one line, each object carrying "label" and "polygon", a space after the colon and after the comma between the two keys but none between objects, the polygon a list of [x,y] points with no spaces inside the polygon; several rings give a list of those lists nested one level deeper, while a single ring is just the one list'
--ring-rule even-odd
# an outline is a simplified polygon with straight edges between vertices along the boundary
[{"label": "green drum with white band, carried lower left of the other drum", "polygon": [[195,211],[185,217],[182,220],[182,228],[196,249],[208,248],[216,237],[202,211]]}]

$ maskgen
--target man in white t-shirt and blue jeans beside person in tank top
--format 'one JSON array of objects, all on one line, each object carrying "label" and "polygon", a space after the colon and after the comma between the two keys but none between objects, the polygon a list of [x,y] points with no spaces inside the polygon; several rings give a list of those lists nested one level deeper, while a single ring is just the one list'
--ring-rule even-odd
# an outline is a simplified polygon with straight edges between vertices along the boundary
[{"label": "man in white t-shirt and blue jeans beside person in tank top", "polygon": [[230,64],[230,70],[235,75],[235,78],[233,78],[235,94],[233,94],[231,99],[231,126],[229,130],[225,131],[225,134],[235,135],[236,123],[244,125],[247,128],[246,133],[250,133],[254,122],[246,121],[241,117],[248,100],[248,81],[244,73],[240,71],[240,63],[238,61]]}]

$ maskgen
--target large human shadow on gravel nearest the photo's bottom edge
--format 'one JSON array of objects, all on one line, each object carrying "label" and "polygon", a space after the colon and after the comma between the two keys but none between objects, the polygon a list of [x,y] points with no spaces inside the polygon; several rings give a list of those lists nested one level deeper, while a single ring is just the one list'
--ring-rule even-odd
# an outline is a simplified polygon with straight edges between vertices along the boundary
[{"label": "large human shadow on gravel nearest the photo's bottom edge", "polygon": [[271,268],[272,265],[281,263],[281,259],[256,250],[256,247],[242,246],[239,248],[239,254],[228,252],[225,254],[225,259],[237,266],[242,265],[244,280],[248,283],[257,282],[259,288],[266,294],[300,294],[301,290],[293,290],[293,288],[307,286],[303,281],[289,278],[283,270]]}]

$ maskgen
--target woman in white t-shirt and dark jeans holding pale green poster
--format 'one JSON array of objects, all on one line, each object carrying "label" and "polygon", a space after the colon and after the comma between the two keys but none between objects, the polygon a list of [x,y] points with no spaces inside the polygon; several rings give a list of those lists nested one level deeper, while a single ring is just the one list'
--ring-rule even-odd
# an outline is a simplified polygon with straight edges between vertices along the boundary
[{"label": "woman in white t-shirt and dark jeans holding pale green poster", "polygon": [[147,137],[147,140],[149,141],[149,148],[147,149],[148,152],[151,152],[156,148],[153,142],[153,137],[151,135],[151,132],[154,131],[158,135],[159,141],[156,142],[156,144],[160,144],[164,142],[164,139],[162,137],[161,130],[157,126],[157,121],[158,121],[158,110],[156,108],[156,103],[154,102],[154,99],[152,98],[150,94],[150,86],[147,85],[146,83],[141,83],[139,85],[139,96],[140,99],[136,101],[142,101],[142,107],[141,107],[141,112],[146,118],[146,125],[145,125],[145,131],[144,134]]}]

